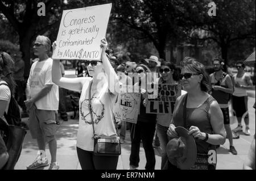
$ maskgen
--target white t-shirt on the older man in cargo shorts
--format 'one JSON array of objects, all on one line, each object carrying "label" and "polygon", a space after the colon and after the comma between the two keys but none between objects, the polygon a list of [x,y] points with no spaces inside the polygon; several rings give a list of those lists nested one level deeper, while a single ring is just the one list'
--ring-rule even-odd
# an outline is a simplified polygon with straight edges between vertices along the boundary
[{"label": "white t-shirt on the older man in cargo shorts", "polygon": [[52,58],[32,64],[27,85],[30,86],[30,98],[38,94],[44,85],[53,85],[46,96],[35,102],[35,106],[38,110],[58,110],[59,87],[52,82]]}]

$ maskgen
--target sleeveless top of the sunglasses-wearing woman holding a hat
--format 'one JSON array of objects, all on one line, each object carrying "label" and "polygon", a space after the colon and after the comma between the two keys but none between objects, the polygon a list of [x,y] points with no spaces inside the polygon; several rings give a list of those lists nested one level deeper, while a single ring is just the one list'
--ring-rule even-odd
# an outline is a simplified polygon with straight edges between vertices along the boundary
[{"label": "sleeveless top of the sunglasses-wearing woman holding a hat", "polygon": [[[187,95],[187,94],[185,94]],[[183,104],[185,95],[181,95],[179,103],[175,106],[174,115],[173,115],[173,124],[175,127],[184,127],[183,122]],[[209,108],[210,104],[215,99],[212,96],[209,96],[207,100],[200,107],[197,108],[187,108],[187,124],[189,129],[191,126],[198,127],[201,132],[213,134],[212,125],[210,124],[210,115]],[[215,150],[214,145],[209,144],[206,141],[195,139],[197,154],[208,154],[209,150]]]}]

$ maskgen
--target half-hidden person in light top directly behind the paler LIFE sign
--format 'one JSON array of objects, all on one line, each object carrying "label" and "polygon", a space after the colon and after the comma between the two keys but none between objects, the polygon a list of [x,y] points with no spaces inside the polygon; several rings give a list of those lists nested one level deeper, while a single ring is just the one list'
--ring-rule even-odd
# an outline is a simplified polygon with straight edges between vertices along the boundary
[{"label": "half-hidden person in light top directly behind the paler LIFE sign", "polygon": [[[125,65],[121,64],[117,66],[117,76],[119,79],[119,82],[122,83],[122,85],[133,85],[133,80],[125,74]],[[126,135],[126,121],[120,121],[120,142],[123,144],[125,142],[125,135]]]}]

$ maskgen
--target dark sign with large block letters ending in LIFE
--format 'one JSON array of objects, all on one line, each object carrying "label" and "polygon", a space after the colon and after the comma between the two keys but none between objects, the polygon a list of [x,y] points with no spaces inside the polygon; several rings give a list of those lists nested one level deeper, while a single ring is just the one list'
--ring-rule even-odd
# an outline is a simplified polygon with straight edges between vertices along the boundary
[{"label": "dark sign with large block letters ending in LIFE", "polygon": [[175,101],[181,95],[181,85],[159,84],[158,98],[148,99],[146,113],[170,114],[174,112]]}]

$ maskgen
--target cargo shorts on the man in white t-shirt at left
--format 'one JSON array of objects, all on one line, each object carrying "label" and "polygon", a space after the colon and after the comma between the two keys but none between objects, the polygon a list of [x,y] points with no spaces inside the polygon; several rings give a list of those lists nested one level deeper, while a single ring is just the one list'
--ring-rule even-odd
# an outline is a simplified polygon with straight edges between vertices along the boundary
[{"label": "cargo shorts on the man in white t-shirt at left", "polygon": [[46,142],[55,139],[57,131],[55,111],[38,110],[34,104],[30,110],[28,126],[34,139],[42,136],[44,136]]}]

